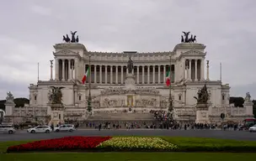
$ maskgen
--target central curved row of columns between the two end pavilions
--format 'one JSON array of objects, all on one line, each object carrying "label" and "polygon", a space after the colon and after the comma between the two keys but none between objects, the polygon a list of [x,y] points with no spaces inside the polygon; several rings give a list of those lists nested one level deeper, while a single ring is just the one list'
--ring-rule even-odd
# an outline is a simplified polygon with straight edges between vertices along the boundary
[{"label": "central curved row of columns between the two end pavilions", "polygon": [[[88,65],[85,68],[88,69]],[[168,69],[169,65],[135,65],[132,73],[136,84],[160,84],[165,83]],[[126,65],[91,65],[91,83],[124,84],[127,73]],[[174,82],[174,65],[171,73]]]}]

